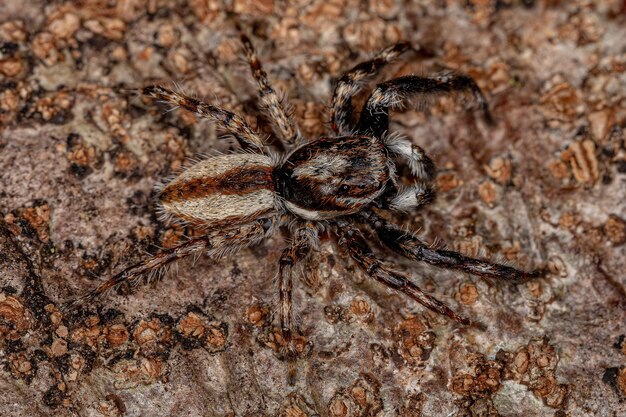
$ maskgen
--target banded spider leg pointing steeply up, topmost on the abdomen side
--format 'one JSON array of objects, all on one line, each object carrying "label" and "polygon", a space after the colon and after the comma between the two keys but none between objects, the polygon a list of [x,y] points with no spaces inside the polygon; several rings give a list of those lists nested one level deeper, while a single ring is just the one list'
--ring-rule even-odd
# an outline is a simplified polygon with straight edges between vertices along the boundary
[{"label": "banded spider leg pointing steeply up, topmost on the abdomen side", "polygon": [[293,118],[293,109],[288,104],[286,105],[286,99],[279,96],[276,90],[272,88],[272,85],[267,79],[267,73],[263,70],[250,38],[243,32],[241,32],[241,43],[243,44],[250,69],[252,70],[252,75],[257,83],[259,102],[261,107],[269,114],[274,133],[276,133],[286,145],[293,145],[299,142],[302,139],[302,135]]}]

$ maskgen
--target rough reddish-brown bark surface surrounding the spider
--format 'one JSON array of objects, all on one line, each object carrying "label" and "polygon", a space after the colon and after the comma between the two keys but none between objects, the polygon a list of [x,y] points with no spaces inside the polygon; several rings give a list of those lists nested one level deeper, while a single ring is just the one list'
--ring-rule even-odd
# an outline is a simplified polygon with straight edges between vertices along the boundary
[{"label": "rough reddish-brown bark surface surrounding the spider", "polygon": [[[0,414],[626,415],[626,3],[53,3],[0,2]],[[175,81],[269,132],[225,7],[308,137],[341,72],[399,40],[418,51],[387,78],[474,76],[494,126],[454,99],[394,114],[439,167],[436,203],[394,219],[551,274],[506,286],[384,254],[487,325],[464,328],[370,282],[328,236],[296,282],[312,347],[295,386],[274,353],[284,234],[63,314],[189,233],[156,220],[156,181],[236,148],[124,88]]]}]

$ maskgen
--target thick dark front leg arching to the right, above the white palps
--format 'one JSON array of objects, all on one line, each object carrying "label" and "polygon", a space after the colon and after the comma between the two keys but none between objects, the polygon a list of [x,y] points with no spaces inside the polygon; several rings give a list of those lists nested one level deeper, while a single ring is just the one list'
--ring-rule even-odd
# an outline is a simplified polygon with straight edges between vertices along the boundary
[{"label": "thick dark front leg arching to the right, above the white palps", "polygon": [[433,77],[407,75],[378,84],[363,107],[357,133],[382,137],[389,129],[389,109],[402,106],[407,99],[422,95],[469,91],[487,122],[493,121],[487,100],[469,75],[444,74]]}]

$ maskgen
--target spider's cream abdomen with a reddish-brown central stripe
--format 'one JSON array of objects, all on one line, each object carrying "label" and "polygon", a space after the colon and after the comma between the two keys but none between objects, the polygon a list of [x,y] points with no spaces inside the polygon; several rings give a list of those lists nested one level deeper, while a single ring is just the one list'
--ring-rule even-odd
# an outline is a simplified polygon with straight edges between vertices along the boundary
[{"label": "spider's cream abdomen with a reddish-brown central stripe", "polygon": [[236,225],[276,211],[271,159],[232,154],[204,159],[160,189],[165,218],[204,227]]}]

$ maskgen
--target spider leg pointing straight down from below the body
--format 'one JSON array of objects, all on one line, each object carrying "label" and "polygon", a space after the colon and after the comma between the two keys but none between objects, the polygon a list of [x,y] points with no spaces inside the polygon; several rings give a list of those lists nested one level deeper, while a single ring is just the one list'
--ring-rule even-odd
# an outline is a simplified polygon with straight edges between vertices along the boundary
[{"label": "spider leg pointing straight down from below the body", "polygon": [[295,380],[295,359],[298,351],[293,340],[293,268],[305,259],[312,245],[317,241],[317,232],[311,224],[301,227],[295,232],[291,245],[283,250],[278,267],[278,281],[280,286],[280,330],[282,333],[281,358],[287,360],[289,366],[289,382]]}]

